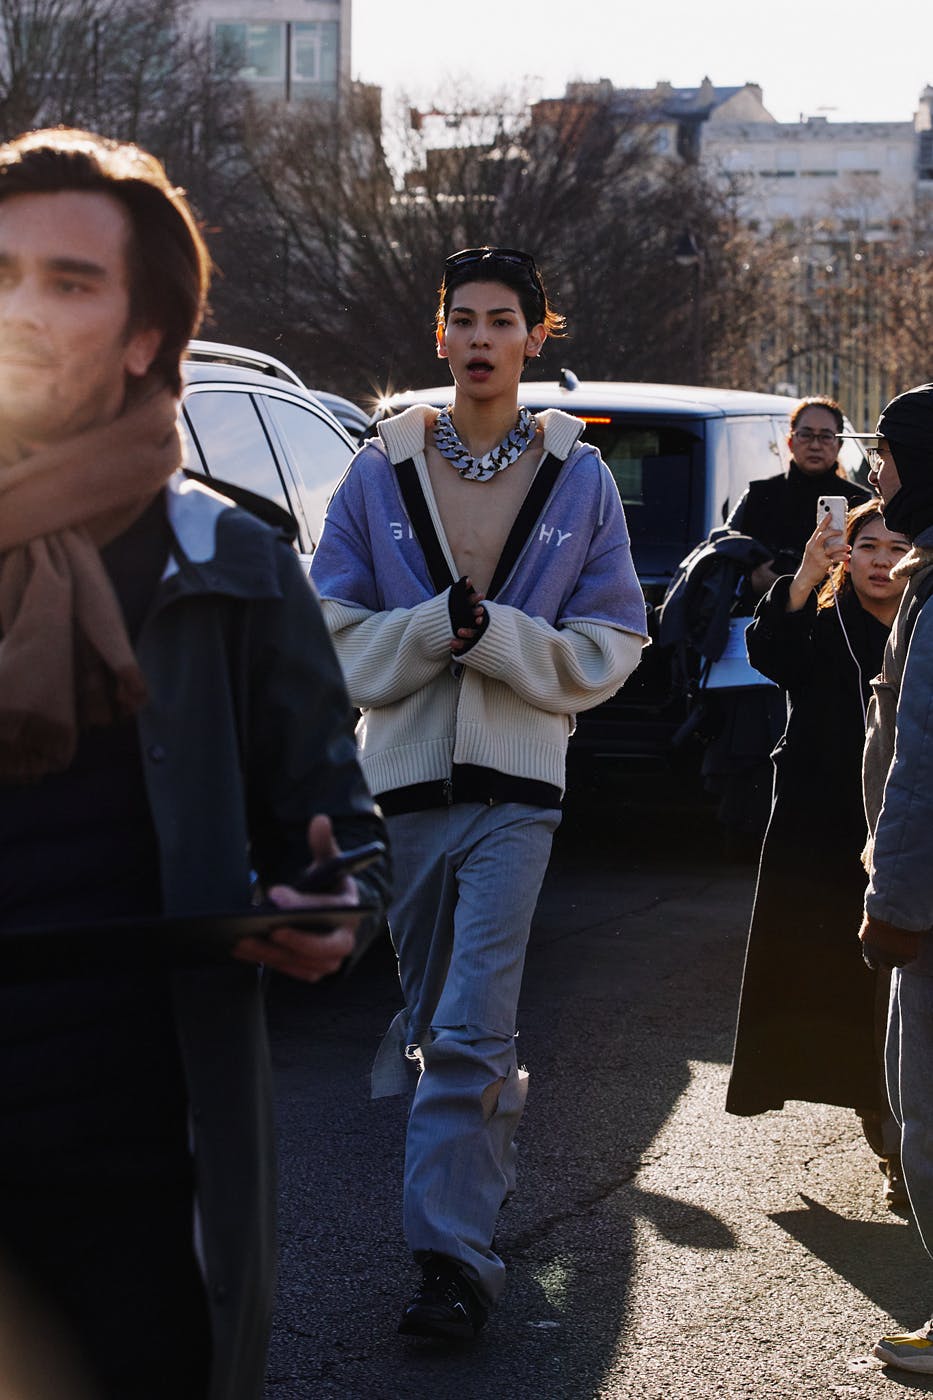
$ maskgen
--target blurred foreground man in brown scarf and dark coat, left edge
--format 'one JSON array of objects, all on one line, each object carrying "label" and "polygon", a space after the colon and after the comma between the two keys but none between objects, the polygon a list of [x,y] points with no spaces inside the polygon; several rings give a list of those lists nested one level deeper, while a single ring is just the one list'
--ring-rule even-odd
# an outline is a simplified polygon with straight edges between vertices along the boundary
[{"label": "blurred foreground man in brown scarf and dark coat, left edge", "polygon": [[[262,1394],[255,963],[335,970],[360,890],[332,934],[286,927],[240,960],[136,952],[134,921],[248,911],[252,871],[312,904],[290,888],[310,857],[381,832],[297,556],[178,470],[207,277],[151,155],[62,129],[0,146],[0,941],[35,941],[0,980],[0,1271],[97,1400]],[[67,970],[38,932],[66,924]]]}]

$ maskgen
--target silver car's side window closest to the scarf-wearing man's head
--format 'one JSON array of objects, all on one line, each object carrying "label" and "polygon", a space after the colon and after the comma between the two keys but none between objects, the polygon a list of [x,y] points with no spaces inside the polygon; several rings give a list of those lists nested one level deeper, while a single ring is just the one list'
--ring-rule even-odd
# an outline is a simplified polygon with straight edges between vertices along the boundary
[{"label": "silver car's side window closest to the scarf-wearing man's head", "polygon": [[189,392],[185,414],[209,476],[245,486],[291,514],[252,395],[231,389]]}]

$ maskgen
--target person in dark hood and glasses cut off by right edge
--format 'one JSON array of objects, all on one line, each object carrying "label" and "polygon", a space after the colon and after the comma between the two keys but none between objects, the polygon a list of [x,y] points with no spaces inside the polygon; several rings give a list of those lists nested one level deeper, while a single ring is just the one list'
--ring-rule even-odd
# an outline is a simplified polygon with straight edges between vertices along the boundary
[{"label": "person in dark hood and glasses cut off by right edge", "polygon": [[[892,399],[867,441],[884,522],[912,549],[894,570],[908,582],[869,710],[860,938],[869,966],[891,969],[888,1098],[913,1218],[933,1253],[933,384]],[[933,1375],[933,1319],[883,1337],[873,1352]]]}]

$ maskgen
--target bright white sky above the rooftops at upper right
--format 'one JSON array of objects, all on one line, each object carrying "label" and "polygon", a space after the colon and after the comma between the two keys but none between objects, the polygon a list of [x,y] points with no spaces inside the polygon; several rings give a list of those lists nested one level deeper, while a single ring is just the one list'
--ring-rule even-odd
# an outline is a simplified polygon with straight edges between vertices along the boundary
[{"label": "bright white sky above the rooftops at upper right", "polygon": [[[353,0],[353,77],[419,104],[444,85],[559,97],[758,83],[772,116],[909,122],[933,84],[930,0]],[[531,80],[528,83],[527,80]],[[443,101],[441,101],[443,105]]]}]

